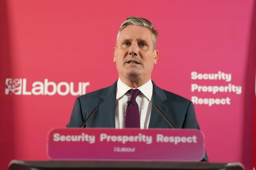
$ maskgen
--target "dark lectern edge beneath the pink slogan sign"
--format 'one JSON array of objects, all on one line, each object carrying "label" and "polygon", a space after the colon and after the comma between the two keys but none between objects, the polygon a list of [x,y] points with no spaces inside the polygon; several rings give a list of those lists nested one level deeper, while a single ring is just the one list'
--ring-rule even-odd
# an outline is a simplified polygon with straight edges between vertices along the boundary
[{"label": "dark lectern edge beneath the pink slogan sign", "polygon": [[168,161],[20,161],[12,160],[9,170],[244,170],[240,163],[168,162]]}]

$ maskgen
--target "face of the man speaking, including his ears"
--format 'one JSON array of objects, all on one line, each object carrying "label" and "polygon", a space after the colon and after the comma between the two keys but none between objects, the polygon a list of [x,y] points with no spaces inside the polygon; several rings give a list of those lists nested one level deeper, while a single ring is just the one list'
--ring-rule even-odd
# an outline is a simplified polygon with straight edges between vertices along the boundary
[{"label": "face of the man speaking, including his ears", "polygon": [[122,81],[146,83],[157,59],[158,51],[153,50],[152,33],[148,28],[128,25],[120,32],[114,62]]}]

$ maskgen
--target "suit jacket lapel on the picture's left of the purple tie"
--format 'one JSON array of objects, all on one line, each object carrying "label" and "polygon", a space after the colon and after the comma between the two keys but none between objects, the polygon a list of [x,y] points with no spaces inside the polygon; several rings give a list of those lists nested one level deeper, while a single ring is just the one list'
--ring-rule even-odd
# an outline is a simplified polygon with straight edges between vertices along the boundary
[{"label": "suit jacket lapel on the picture's left of the purple tie", "polygon": [[107,87],[100,96],[103,100],[99,105],[100,125],[102,127],[115,127],[116,83]]}]

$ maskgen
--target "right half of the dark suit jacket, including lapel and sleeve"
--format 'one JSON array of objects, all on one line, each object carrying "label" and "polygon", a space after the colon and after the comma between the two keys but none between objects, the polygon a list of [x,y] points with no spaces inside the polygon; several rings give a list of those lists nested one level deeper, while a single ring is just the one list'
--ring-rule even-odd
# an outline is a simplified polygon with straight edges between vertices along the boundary
[{"label": "right half of the dark suit jacket, including lapel and sleeve", "polygon": [[[150,127],[154,127],[154,124],[162,124],[161,128],[170,128],[168,123],[160,117],[160,114],[154,108],[154,106],[157,106],[172,122],[174,127],[200,129],[196,120],[194,105],[190,100],[172,92],[163,90],[156,86],[154,82],[153,89],[152,119],[150,118]],[[154,119],[158,119],[158,121],[156,122]]]}]

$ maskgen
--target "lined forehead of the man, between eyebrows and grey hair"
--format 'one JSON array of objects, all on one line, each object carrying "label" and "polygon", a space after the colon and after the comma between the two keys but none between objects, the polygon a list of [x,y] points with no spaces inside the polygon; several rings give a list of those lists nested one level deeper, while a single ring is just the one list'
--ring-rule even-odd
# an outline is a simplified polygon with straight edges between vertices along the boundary
[{"label": "lined forehead of the man, between eyebrows and grey hair", "polygon": [[120,32],[118,41],[124,41],[124,39],[143,39],[152,43],[152,33],[146,27],[128,25]]}]

